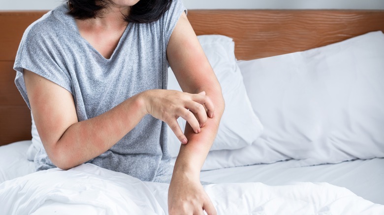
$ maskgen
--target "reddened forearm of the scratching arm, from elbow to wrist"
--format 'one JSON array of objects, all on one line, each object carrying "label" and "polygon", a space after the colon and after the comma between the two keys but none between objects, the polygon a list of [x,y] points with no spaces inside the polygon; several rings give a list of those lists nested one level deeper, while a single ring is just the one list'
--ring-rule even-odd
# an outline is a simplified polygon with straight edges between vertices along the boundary
[{"label": "reddened forearm of the scratching arm, from elbow to wrist", "polygon": [[146,114],[135,95],[94,118],[72,124],[47,153],[55,165],[69,169],[110,149]]}]

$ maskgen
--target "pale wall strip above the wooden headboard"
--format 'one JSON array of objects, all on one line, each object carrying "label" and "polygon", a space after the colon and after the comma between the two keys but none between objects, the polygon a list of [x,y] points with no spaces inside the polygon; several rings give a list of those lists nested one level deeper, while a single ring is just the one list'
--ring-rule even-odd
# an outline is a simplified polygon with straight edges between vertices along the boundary
[{"label": "pale wall strip above the wooden headboard", "polygon": [[[384,0],[183,0],[188,9],[384,9]],[[0,10],[49,10],[62,0],[0,0]]]}]

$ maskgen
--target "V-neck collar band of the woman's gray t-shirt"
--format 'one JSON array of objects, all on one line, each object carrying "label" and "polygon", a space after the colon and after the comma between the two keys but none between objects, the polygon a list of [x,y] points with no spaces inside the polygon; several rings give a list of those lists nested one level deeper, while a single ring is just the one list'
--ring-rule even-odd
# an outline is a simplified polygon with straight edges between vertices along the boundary
[{"label": "V-neck collar band of the woman's gray t-shirt", "polygon": [[96,48],[94,46],[92,46],[91,43],[88,42],[88,40],[86,40],[84,37],[81,36],[80,34],[80,31],[79,31],[79,28],[77,27],[77,24],[76,24],[76,20],[74,17],[72,17],[71,15],[69,15],[67,12],[69,11],[69,8],[68,8],[68,5],[66,3],[63,3],[61,6],[59,6],[57,8],[59,11],[60,10],[63,10],[63,13],[62,14],[55,14],[55,16],[57,17],[57,15],[59,16],[63,16],[61,17],[62,19],[59,19],[59,20],[63,20],[63,24],[68,26],[68,23],[69,23],[69,28],[71,30],[73,30],[73,32],[75,32],[76,36],[79,38],[79,40],[81,40],[83,43],[85,43],[93,52],[95,52],[101,59],[103,59],[104,61],[111,61],[112,59],[115,58],[115,55],[117,55],[117,52],[118,50],[120,49],[120,47],[122,46],[122,43],[123,43],[123,40],[124,38],[126,37],[127,35],[127,32],[128,32],[128,29],[131,27],[131,23],[128,23],[126,29],[124,30],[122,36],[120,37],[119,39],[119,42],[115,48],[115,50],[113,50],[111,56],[109,58],[105,58],[102,54],[100,54]]}]

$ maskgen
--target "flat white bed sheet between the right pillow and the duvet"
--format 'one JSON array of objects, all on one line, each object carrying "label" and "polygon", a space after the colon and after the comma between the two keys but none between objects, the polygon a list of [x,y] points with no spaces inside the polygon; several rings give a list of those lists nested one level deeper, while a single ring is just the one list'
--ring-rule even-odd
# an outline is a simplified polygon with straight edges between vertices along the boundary
[{"label": "flat white bed sheet between the right pillow and the duvet", "polygon": [[298,167],[296,160],[281,161],[202,171],[200,179],[213,183],[261,182],[270,186],[327,182],[384,205],[384,159],[380,158],[305,167]]}]

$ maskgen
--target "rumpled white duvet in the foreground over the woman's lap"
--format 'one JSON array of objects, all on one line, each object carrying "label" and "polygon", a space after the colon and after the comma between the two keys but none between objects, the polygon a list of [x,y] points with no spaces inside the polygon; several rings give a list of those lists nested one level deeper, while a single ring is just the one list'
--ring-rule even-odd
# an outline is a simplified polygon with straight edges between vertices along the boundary
[{"label": "rumpled white duvet in the foreground over the woman's lap", "polygon": [[[327,183],[205,185],[219,215],[384,214],[384,206]],[[0,184],[4,215],[164,215],[168,185],[93,164],[35,172]]]}]

